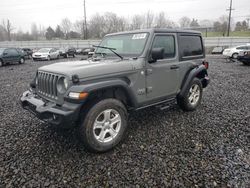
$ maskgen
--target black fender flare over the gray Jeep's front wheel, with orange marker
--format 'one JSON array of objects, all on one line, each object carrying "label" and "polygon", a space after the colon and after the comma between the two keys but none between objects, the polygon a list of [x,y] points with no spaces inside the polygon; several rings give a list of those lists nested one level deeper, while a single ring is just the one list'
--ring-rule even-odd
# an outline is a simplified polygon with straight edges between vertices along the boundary
[{"label": "black fender flare over the gray Jeep's front wheel, with orange marker", "polygon": [[117,78],[117,79],[111,79],[111,80],[102,80],[102,81],[99,80],[99,81],[96,81],[93,83],[87,83],[87,84],[80,83],[79,85],[72,86],[70,91],[68,91],[68,93],[71,91],[93,93],[98,90],[109,89],[109,88],[114,88],[114,87],[120,87],[124,89],[127,97],[129,97],[129,101],[132,107],[138,106],[137,99],[136,99],[134,92],[132,91],[132,88],[129,86],[129,83],[124,79]]}]

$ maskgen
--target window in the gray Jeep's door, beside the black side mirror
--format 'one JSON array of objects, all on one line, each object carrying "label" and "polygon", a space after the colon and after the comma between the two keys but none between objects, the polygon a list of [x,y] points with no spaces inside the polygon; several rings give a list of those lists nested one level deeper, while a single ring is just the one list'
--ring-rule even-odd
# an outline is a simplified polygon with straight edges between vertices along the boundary
[{"label": "window in the gray Jeep's door, beside the black side mirror", "polygon": [[164,48],[164,59],[175,57],[175,39],[172,35],[157,35],[153,48]]}]

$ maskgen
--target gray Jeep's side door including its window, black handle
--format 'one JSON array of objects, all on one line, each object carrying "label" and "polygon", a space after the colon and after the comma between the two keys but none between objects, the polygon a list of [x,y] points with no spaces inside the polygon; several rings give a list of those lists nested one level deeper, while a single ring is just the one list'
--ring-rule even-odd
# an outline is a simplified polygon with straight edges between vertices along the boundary
[{"label": "gray Jeep's side door including its window, black handle", "polygon": [[156,62],[146,63],[147,98],[161,99],[175,96],[179,82],[177,35],[155,34],[151,51],[153,48],[164,48],[164,57]]}]

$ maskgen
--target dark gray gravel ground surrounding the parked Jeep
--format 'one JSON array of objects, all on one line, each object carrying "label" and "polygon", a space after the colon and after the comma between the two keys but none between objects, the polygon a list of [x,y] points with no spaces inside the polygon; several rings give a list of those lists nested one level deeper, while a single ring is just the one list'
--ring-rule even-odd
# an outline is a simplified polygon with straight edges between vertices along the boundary
[{"label": "dark gray gravel ground surrounding the parked Jeep", "polygon": [[85,152],[77,130],[20,107],[49,62],[0,67],[0,187],[250,187],[250,67],[209,61],[212,82],[197,111],[133,113],[127,139],[105,154]]}]

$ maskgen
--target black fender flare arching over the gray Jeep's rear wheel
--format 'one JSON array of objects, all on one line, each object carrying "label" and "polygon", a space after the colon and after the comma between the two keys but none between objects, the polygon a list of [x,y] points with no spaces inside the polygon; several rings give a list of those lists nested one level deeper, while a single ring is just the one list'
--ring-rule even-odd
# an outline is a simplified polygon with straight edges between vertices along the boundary
[{"label": "black fender flare arching over the gray Jeep's rear wheel", "polygon": [[207,69],[204,65],[200,65],[197,66],[196,68],[191,69],[191,71],[189,71],[185,76],[184,82],[182,83],[181,86],[181,91],[178,96],[183,97],[186,94],[190,82],[202,72],[205,72],[205,74],[207,74]]}]

